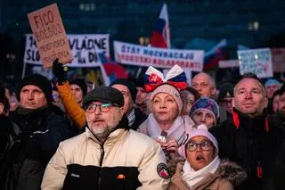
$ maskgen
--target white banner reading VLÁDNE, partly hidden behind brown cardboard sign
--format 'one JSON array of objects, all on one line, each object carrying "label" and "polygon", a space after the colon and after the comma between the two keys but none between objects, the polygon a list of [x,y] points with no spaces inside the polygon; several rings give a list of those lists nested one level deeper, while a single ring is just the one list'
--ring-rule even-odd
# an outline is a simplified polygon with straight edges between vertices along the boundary
[{"label": "white banner reading VL\u00c1DNE, partly hidden behind brown cardboard sign", "polygon": [[[69,67],[99,67],[97,51],[110,54],[109,34],[67,35],[73,60]],[[24,62],[41,65],[36,38],[26,34]]]}]

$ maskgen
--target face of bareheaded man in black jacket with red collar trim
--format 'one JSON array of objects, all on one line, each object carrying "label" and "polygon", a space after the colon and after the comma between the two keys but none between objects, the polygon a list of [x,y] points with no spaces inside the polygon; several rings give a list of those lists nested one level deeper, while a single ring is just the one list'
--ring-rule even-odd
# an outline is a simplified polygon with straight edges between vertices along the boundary
[{"label": "face of bareheaded man in black jacket with red collar trim", "polygon": [[260,115],[267,106],[263,87],[254,78],[240,80],[234,90],[233,106],[251,118]]}]

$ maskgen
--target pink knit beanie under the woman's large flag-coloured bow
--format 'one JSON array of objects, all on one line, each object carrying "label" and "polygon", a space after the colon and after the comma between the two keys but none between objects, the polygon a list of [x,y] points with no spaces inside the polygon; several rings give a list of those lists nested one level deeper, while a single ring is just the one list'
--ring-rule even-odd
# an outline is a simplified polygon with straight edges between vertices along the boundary
[{"label": "pink knit beanie under the woman's large flag-coloured bow", "polygon": [[175,99],[175,102],[178,105],[179,113],[182,111],[183,103],[177,88],[167,83],[160,85],[159,87],[155,88],[155,90],[151,93],[151,100],[154,98],[155,95],[159,93],[167,93],[168,95],[171,95]]}]

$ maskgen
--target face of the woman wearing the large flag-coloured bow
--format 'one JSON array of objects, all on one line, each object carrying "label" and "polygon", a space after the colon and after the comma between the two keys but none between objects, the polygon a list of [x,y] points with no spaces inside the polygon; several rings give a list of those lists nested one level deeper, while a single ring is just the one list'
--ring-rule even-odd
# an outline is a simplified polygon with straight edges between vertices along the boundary
[{"label": "face of the woman wearing the large flag-coloured bow", "polygon": [[172,124],[179,112],[175,99],[167,93],[159,93],[152,98],[151,110],[159,124]]}]

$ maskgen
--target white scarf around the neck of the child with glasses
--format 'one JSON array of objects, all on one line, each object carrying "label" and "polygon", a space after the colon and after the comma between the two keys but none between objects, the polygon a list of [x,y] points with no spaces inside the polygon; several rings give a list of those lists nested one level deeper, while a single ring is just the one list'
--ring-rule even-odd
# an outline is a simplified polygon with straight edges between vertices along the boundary
[{"label": "white scarf around the neck of the child with glasses", "polygon": [[187,185],[191,188],[195,186],[200,180],[205,178],[208,173],[215,173],[216,169],[220,165],[220,159],[218,156],[211,161],[206,167],[195,171],[191,168],[191,164],[186,160],[183,165],[183,180],[187,183]]}]

